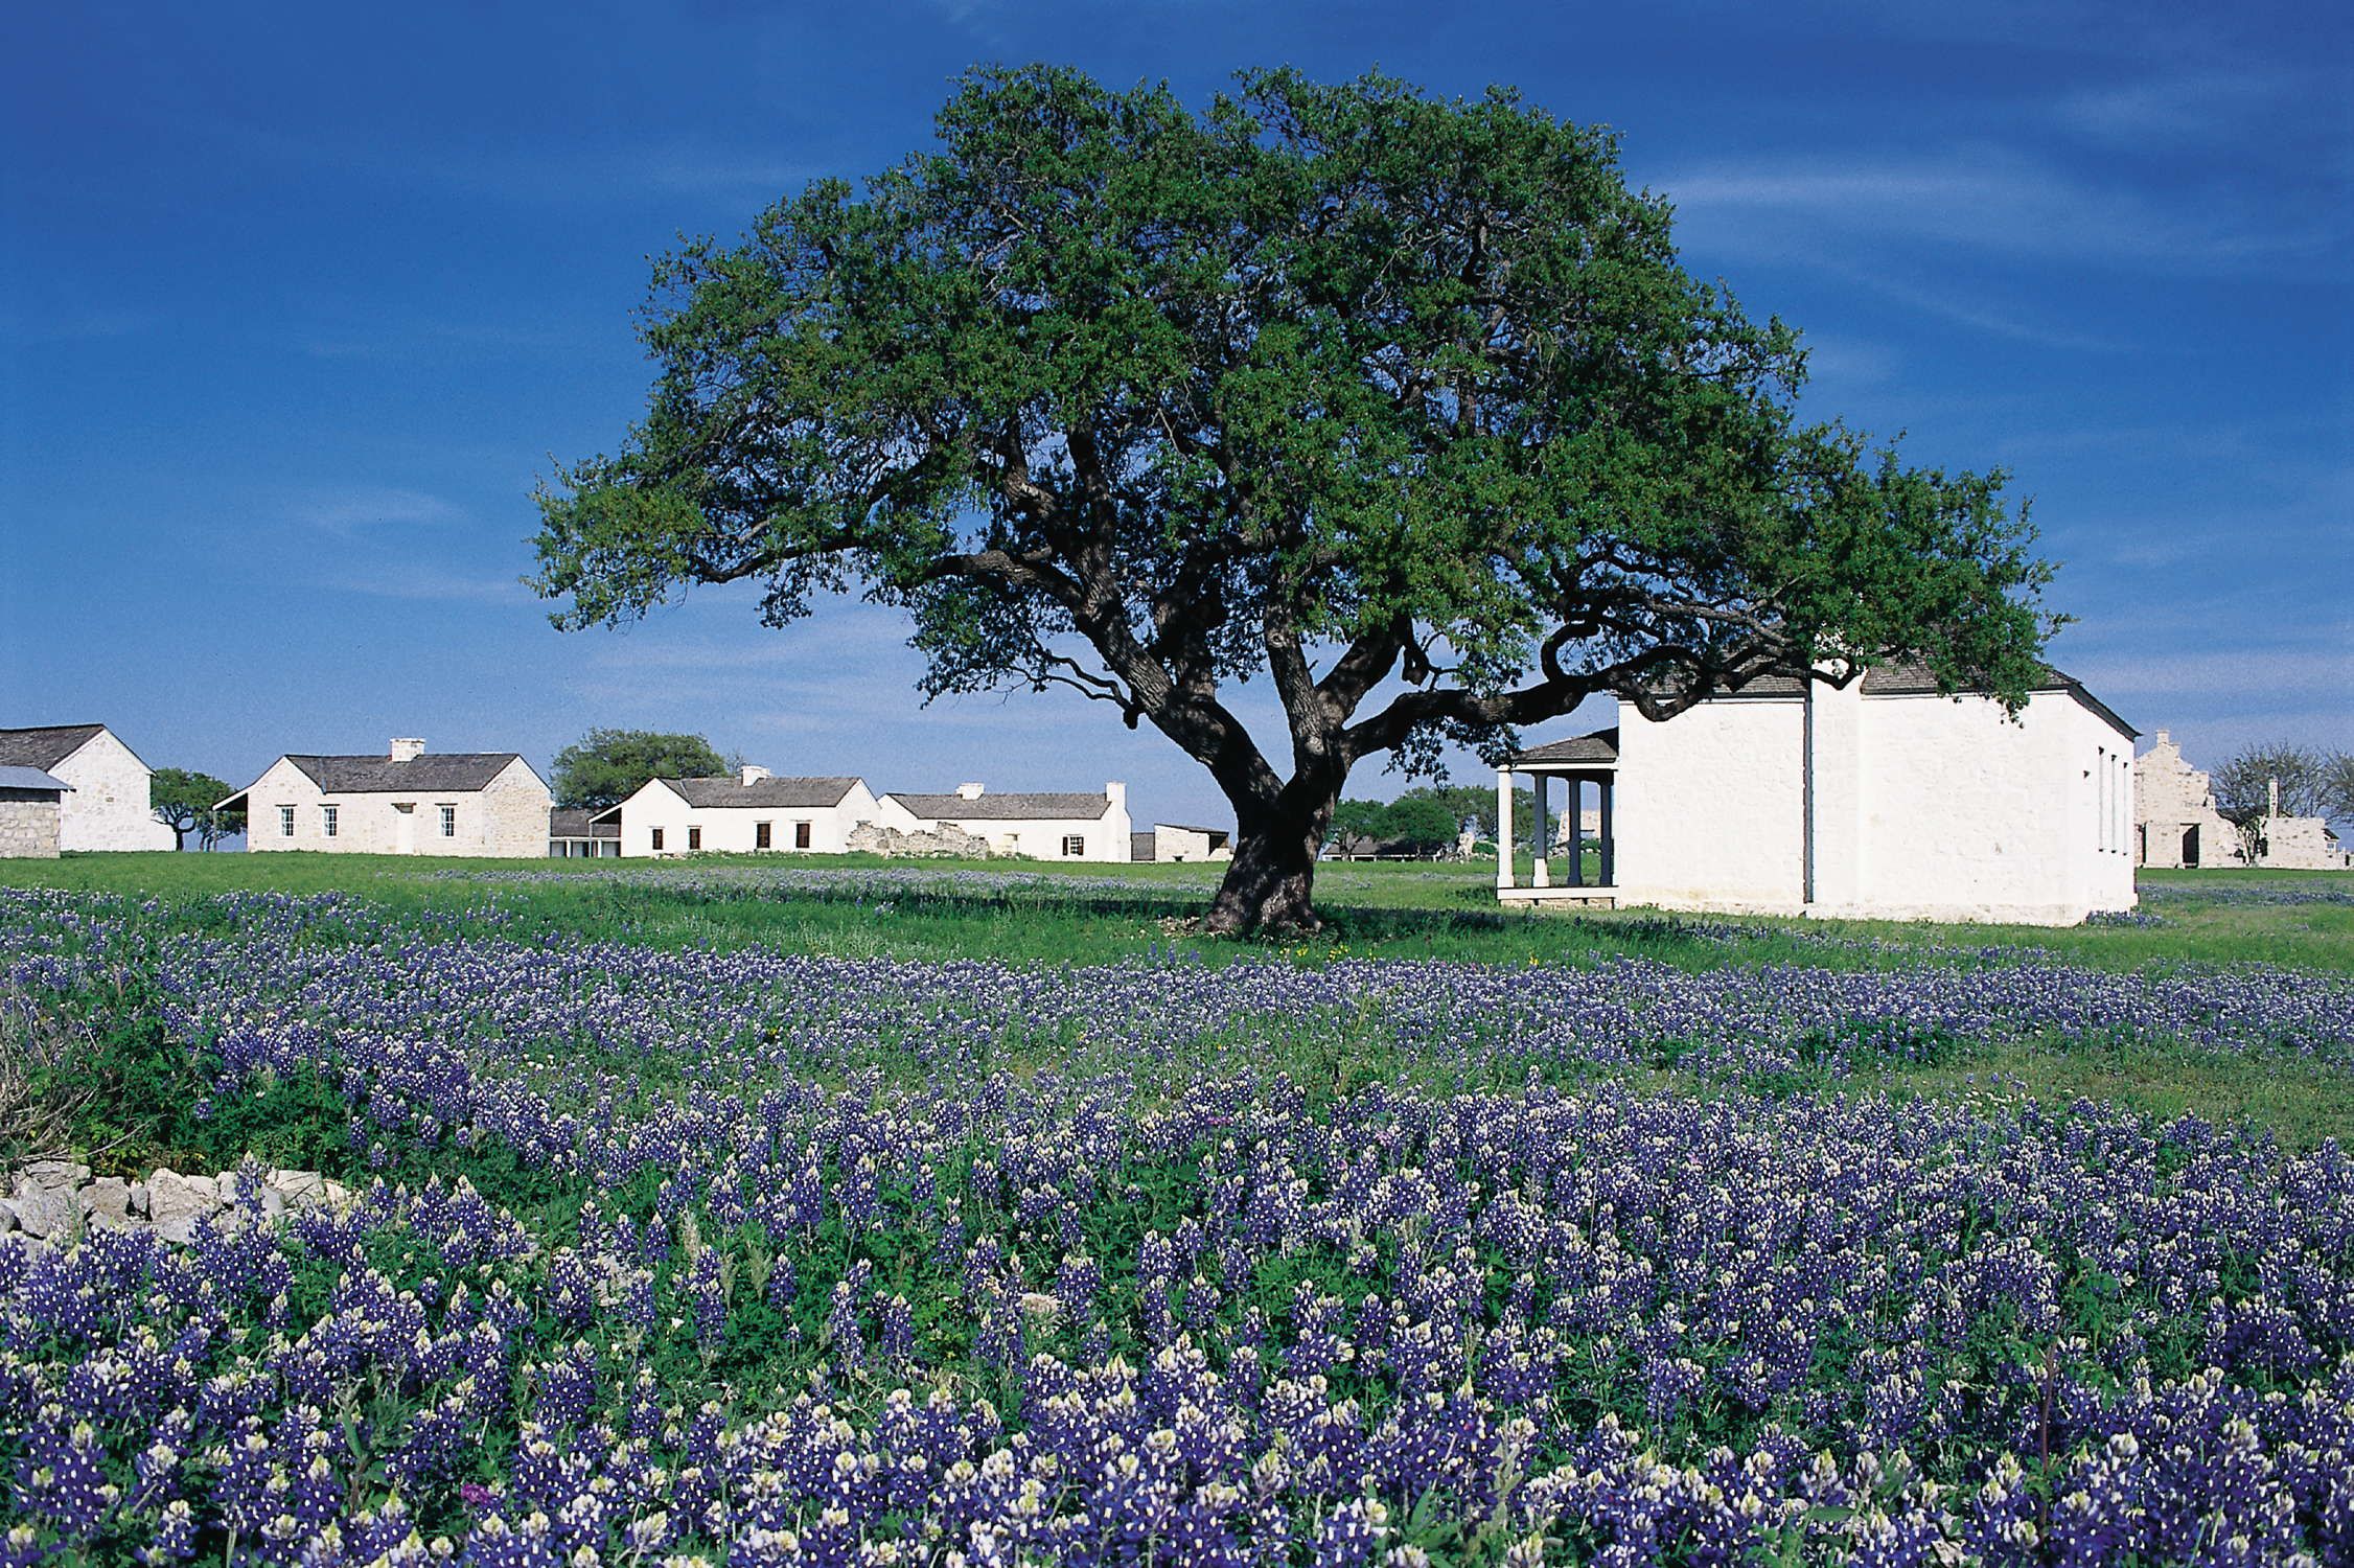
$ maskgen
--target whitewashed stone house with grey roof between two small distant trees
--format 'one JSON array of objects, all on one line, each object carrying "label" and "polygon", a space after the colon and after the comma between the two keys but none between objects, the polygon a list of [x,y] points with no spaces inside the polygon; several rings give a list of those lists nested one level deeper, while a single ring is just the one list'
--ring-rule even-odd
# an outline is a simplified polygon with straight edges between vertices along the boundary
[{"label": "whitewashed stone house with grey roof between two small distant trees", "polygon": [[287,753],[221,805],[245,810],[247,850],[541,857],[553,796],[513,751],[395,739],[386,756]]}]

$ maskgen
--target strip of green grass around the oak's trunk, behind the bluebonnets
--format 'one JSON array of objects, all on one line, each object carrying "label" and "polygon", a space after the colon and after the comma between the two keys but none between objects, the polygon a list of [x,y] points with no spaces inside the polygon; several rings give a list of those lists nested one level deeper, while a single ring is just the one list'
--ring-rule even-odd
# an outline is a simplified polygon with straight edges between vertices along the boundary
[{"label": "strip of green grass around the oak's trunk, behind the bluebonnets", "polygon": [[[1591,859],[1591,857],[1589,857]],[[659,866],[659,871],[654,871]],[[650,878],[652,871],[652,878]],[[713,878],[697,873],[711,871]],[[892,899],[878,923],[855,895],[763,890],[758,871],[838,871],[878,878],[1017,873],[996,897]],[[753,881],[730,885],[730,876]],[[1325,862],[1316,906],[1330,930],[1316,939],[1203,939],[1184,930],[1217,885],[1208,864],[892,862],[876,855],[709,855],[683,862],[384,855],[66,855],[0,862],[0,885],[73,888],[137,897],[205,897],[233,890],[344,890],[388,909],[468,909],[490,897],[551,930],[654,944],[772,944],[803,951],[904,958],[986,956],[1045,963],[1109,963],[1125,954],[1189,946],[1210,961],[1283,951],[1302,963],[1332,956],[1551,961],[1565,949],[1648,954],[1669,963],[1869,965],[1907,956],[2041,951],[2107,970],[2166,963],[2274,963],[2354,975],[2354,871],[2144,871],[2142,911],[2163,925],[1935,925],[1928,921],[1791,921],[1763,916],[1662,916],[1617,911],[1502,911],[1492,864]],[[1106,890],[1102,883],[1116,883]],[[2248,895],[2338,895],[2349,902],[2239,902]],[[1758,932],[1740,944],[1702,942],[1690,928]],[[1791,935],[1794,939],[1777,939]],[[1857,946],[1824,946],[1822,937]]]}]

